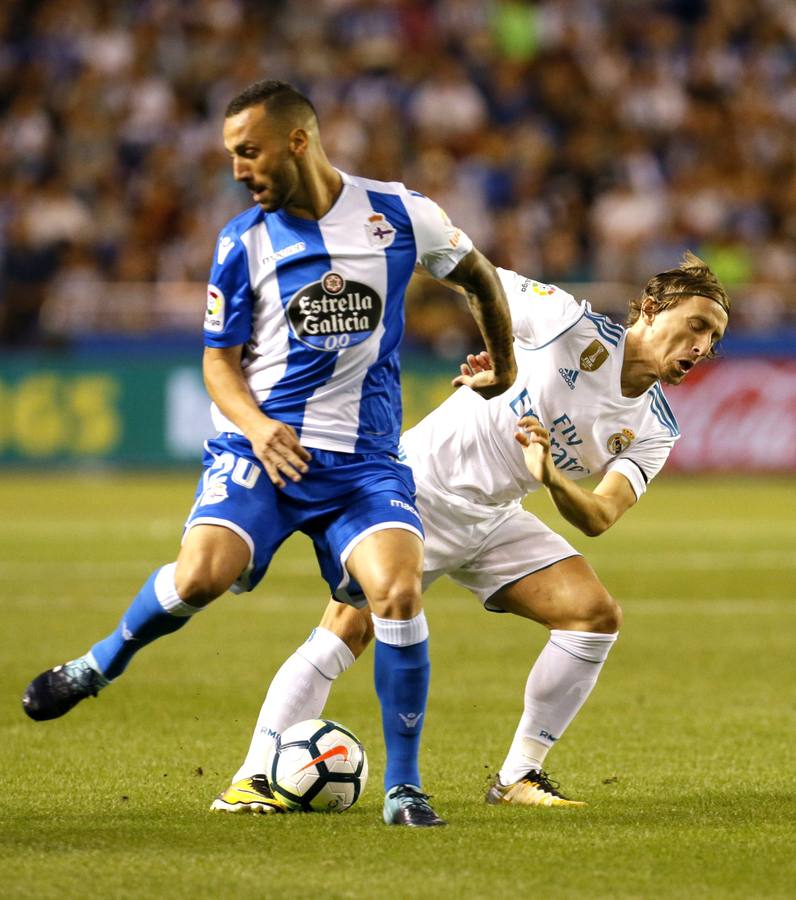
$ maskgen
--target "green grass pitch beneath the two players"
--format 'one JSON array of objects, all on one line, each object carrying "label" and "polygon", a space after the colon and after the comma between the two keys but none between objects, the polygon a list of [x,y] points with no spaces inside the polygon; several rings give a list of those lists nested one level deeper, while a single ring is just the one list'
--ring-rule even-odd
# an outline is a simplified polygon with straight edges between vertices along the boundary
[{"label": "green grass pitch beneath the two players", "polygon": [[487,807],[544,630],[427,596],[426,787],[446,829],[380,822],[372,653],[326,710],[371,780],[342,815],[213,816],[262,692],[325,601],[309,543],[227,595],[65,718],[19,697],[116,623],[174,558],[193,474],[0,478],[0,869],[4,897],[793,897],[796,487],[662,478],[609,534],[563,528],[625,610],[581,715],[548,758],[582,810]]}]

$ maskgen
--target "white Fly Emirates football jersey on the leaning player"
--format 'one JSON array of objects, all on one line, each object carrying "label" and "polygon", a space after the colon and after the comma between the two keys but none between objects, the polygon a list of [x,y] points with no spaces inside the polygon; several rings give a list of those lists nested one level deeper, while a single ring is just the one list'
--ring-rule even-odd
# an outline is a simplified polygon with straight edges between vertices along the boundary
[{"label": "white Fly Emirates football jersey on the leaning player", "polygon": [[514,439],[533,415],[548,429],[567,477],[621,472],[640,497],[679,429],[658,382],[640,397],[621,388],[626,331],[552,285],[498,270],[511,308],[518,376],[484,400],[461,387],[402,438],[422,492],[430,481],[452,503],[518,502],[539,487]]}]

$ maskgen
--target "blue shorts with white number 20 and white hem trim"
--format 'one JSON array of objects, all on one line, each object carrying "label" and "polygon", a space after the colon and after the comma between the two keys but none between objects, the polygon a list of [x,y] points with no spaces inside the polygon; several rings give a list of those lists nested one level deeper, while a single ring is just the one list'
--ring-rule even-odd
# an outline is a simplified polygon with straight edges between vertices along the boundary
[{"label": "blue shorts with white number 20 and white hem trim", "polygon": [[207,441],[185,532],[194,525],[223,525],[243,538],[251,558],[231,588],[240,593],[259,584],[280,544],[301,531],[312,539],[335,598],[364,606],[362,588],[345,568],[354,547],[385,528],[403,528],[424,539],[412,470],[388,454],[314,448],[310,453],[301,481],[286,479],[278,488],[246,438],[224,433]]}]

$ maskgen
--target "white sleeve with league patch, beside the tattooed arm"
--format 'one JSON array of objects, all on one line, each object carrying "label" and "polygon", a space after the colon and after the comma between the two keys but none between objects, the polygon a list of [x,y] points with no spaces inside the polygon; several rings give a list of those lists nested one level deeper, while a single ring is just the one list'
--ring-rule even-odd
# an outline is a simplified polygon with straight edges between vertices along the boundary
[{"label": "white sleeve with league patch, beside the tattooed arm", "polygon": [[582,304],[561,288],[508,269],[497,272],[509,301],[514,337],[523,346],[543,347],[583,316]]}]

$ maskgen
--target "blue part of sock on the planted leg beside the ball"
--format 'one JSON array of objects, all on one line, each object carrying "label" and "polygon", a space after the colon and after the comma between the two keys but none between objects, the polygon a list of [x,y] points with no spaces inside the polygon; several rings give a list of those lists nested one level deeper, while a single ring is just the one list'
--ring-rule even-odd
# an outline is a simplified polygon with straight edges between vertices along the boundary
[{"label": "blue part of sock on the planted leg beside the ball", "polygon": [[389,791],[396,784],[420,787],[420,732],[431,674],[428,639],[408,647],[377,639],[374,674],[387,748],[384,789]]}]

